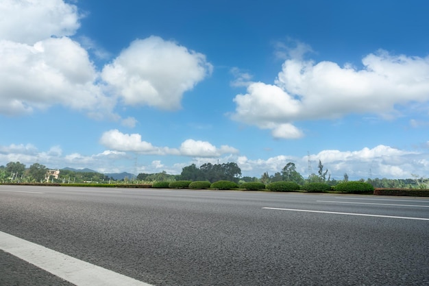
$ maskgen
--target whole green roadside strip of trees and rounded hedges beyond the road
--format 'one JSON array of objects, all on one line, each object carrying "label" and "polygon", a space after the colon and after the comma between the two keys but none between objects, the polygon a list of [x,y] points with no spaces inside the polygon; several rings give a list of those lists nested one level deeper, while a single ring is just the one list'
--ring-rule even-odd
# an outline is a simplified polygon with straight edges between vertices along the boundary
[{"label": "whole green roadside strip of trees and rounded hedges beyond the road", "polygon": [[197,167],[186,166],[179,175],[138,174],[132,178],[114,180],[104,174],[86,171],[60,170],[58,178],[49,175],[44,165],[34,163],[28,168],[19,162],[0,166],[0,184],[43,184],[79,187],[129,187],[129,188],[169,188],[169,189],[219,189],[243,191],[280,191],[308,193],[374,193],[377,195],[419,195],[429,196],[429,180],[415,174],[410,179],[368,178],[349,181],[345,173],[343,180],[330,178],[328,169],[319,160],[317,174],[304,178],[295,167],[287,163],[282,170],[269,175],[241,176],[236,163],[211,164]]}]

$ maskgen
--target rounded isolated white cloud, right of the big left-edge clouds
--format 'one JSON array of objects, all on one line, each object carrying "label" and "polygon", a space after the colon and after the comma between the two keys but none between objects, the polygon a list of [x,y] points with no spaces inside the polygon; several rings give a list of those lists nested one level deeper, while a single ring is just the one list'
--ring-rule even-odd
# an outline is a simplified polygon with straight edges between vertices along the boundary
[{"label": "rounded isolated white cloud, right of the big left-edge clouds", "polygon": [[124,104],[175,110],[180,108],[183,93],[211,70],[203,54],[151,36],[134,40],[112,64],[104,67],[101,77]]}]

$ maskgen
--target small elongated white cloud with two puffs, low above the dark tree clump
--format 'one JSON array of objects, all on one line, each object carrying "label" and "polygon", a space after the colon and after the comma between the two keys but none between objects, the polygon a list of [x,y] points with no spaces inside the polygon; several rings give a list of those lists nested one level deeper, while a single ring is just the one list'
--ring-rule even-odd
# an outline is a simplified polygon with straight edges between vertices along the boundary
[{"label": "small elongated white cloud with two puffs, low above the dark tree clump", "polygon": [[178,149],[157,147],[147,141],[143,141],[140,134],[124,134],[117,129],[104,132],[100,143],[112,150],[136,152],[138,154],[217,157],[222,154],[234,154],[238,152],[234,147],[228,145],[221,145],[218,148],[207,141],[195,141],[193,139],[184,141]]}]

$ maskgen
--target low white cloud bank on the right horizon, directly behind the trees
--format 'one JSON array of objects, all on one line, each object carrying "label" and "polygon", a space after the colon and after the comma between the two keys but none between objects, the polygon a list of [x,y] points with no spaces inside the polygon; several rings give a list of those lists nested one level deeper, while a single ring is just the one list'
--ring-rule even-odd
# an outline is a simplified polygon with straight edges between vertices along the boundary
[{"label": "low white cloud bank on the right horizon, directly behind the trees", "polygon": [[362,150],[340,151],[322,150],[318,154],[302,156],[274,156],[267,159],[249,159],[247,156],[238,156],[233,160],[241,167],[244,176],[260,177],[265,171],[269,175],[282,171],[289,162],[295,163],[297,171],[307,178],[308,159],[311,172],[317,174],[318,163],[328,169],[332,178],[342,179],[347,173],[352,180],[360,178],[410,178],[411,174],[426,174],[429,171],[429,153],[410,152],[393,147],[378,145],[373,148],[365,147]]}]

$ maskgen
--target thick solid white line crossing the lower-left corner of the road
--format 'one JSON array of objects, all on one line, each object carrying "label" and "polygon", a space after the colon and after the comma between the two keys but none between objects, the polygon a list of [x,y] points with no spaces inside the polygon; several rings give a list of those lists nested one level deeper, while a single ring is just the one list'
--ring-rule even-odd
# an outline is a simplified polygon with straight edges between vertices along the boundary
[{"label": "thick solid white line crossing the lower-left corner of the road", "polygon": [[0,249],[76,286],[151,286],[1,231]]}]

